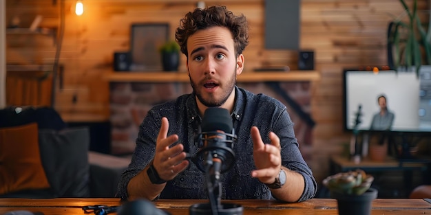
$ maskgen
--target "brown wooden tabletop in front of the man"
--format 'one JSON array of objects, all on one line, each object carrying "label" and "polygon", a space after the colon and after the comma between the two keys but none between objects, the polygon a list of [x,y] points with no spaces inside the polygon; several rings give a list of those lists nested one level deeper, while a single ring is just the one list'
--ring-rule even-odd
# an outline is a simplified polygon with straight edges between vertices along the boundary
[{"label": "brown wooden tabletop in front of the man", "polygon": [[[190,205],[207,202],[207,200],[159,200],[154,203],[156,207],[172,215],[185,215],[189,214]],[[311,199],[302,203],[266,200],[222,201],[222,203],[242,205],[244,214],[338,214],[335,199]],[[96,204],[121,205],[120,199],[0,199],[0,214],[12,210],[28,210],[43,212],[45,215],[82,215],[84,212],[81,207]],[[431,203],[423,199],[375,199],[371,214],[431,214]]]}]

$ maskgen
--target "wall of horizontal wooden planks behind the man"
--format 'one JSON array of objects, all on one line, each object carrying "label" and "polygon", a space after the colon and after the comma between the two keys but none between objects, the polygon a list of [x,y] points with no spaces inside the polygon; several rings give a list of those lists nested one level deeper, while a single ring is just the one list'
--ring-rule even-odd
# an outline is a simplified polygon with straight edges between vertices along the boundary
[{"label": "wall of horizontal wooden planks behind the man", "polygon": [[[169,23],[171,38],[180,18],[193,8],[192,0],[85,0],[82,16],[72,12],[76,1],[65,0],[65,32],[60,63],[63,86],[56,89],[55,108],[69,121],[98,121],[109,117],[109,89],[103,75],[112,71],[113,53],[130,49],[132,23]],[[246,70],[264,65],[289,65],[296,69],[297,52],[264,49],[264,0],[205,1],[222,3],[243,13],[250,23],[250,45],[244,52]],[[412,5],[412,1],[408,1]],[[36,14],[41,27],[56,29],[61,0],[6,0],[7,22],[14,16],[28,27]],[[419,8],[429,8],[419,0]],[[344,68],[386,65],[386,30],[403,14],[397,0],[302,0],[301,49],[315,51],[315,69],[321,80],[313,86],[313,131],[316,152],[311,166],[324,165],[327,156],[341,150],[349,135],[342,126],[342,71]],[[58,41],[57,43],[58,44]],[[55,43],[50,36],[7,37],[8,64],[50,64]],[[185,71],[182,56],[181,71]],[[325,167],[323,167],[325,169]],[[324,172],[316,172],[317,179]]]}]

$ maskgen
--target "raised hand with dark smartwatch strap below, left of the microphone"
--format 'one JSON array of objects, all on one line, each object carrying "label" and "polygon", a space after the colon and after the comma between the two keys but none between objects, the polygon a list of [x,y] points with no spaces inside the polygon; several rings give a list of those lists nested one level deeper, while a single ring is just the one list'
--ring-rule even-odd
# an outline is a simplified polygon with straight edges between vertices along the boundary
[{"label": "raised hand with dark smartwatch strap below, left of the microphone", "polygon": [[186,153],[183,152],[184,146],[176,144],[178,135],[170,135],[167,137],[169,130],[169,121],[166,117],[162,117],[162,126],[157,136],[156,153],[154,155],[153,166],[156,168],[160,179],[169,181],[174,179],[178,172],[185,170],[189,166],[189,161],[185,160]]}]

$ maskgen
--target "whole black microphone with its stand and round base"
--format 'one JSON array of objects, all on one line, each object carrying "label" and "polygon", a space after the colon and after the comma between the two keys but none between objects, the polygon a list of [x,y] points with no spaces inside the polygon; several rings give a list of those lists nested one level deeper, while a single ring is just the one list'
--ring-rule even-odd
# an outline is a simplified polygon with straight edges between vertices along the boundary
[{"label": "whole black microphone with its stand and round base", "polygon": [[216,107],[206,109],[200,128],[202,132],[196,139],[200,150],[192,161],[206,174],[209,203],[191,205],[190,214],[242,214],[241,205],[221,203],[220,174],[229,170],[235,161],[232,148],[236,135],[229,111]]}]

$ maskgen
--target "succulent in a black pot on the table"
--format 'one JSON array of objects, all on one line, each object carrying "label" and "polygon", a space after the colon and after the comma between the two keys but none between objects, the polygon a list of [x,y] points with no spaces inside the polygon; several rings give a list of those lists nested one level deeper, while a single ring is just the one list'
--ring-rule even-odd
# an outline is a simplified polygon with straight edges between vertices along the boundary
[{"label": "succulent in a black pot on the table", "polygon": [[337,199],[339,215],[369,215],[377,190],[370,188],[374,177],[364,170],[339,172],[324,179],[330,196]]}]

